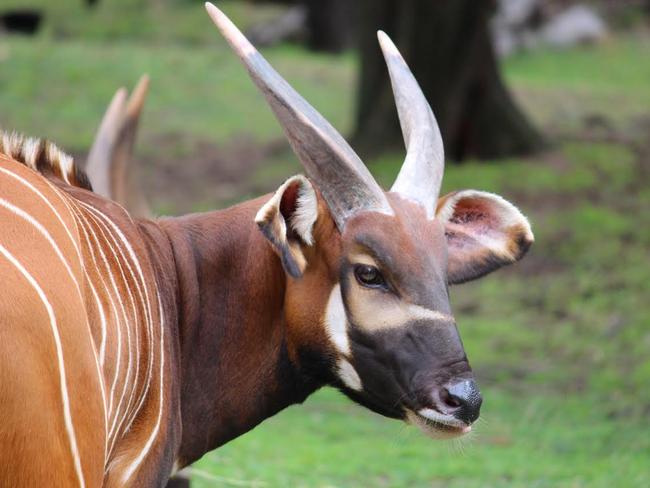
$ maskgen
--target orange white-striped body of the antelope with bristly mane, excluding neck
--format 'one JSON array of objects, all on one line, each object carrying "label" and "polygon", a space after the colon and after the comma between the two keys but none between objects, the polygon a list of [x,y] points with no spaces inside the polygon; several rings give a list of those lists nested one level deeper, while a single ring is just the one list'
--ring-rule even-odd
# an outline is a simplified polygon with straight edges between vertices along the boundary
[{"label": "orange white-striped body of the antelope with bristly mane, excluding neck", "polygon": [[8,486],[146,485],[167,469],[165,285],[129,215],[89,190],[54,145],[0,134],[0,449],[12,457],[0,480]]}]

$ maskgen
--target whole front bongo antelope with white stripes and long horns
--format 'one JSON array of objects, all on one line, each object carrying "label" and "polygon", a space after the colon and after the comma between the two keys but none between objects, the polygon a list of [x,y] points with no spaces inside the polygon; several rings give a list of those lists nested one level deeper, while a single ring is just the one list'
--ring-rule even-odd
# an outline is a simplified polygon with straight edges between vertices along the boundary
[{"label": "whole front bongo antelope with white stripes and long horns", "polygon": [[407,155],[384,192],[211,4],[308,177],[216,212],[132,219],[55,146],[0,153],[3,486],[160,486],[324,385],[433,437],[481,397],[448,286],[533,241],[503,198],[438,198],[435,118],[379,40]]}]

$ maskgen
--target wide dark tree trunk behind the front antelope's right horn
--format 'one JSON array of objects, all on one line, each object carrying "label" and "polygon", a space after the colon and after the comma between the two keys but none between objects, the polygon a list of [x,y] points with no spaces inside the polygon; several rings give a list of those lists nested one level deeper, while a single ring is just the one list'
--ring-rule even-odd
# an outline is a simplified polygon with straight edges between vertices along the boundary
[{"label": "wide dark tree trunk behind the front antelope's right horn", "polygon": [[492,1],[361,0],[360,8],[354,141],[361,151],[403,144],[377,29],[393,39],[422,87],[448,158],[498,158],[543,147],[500,76],[489,32]]}]

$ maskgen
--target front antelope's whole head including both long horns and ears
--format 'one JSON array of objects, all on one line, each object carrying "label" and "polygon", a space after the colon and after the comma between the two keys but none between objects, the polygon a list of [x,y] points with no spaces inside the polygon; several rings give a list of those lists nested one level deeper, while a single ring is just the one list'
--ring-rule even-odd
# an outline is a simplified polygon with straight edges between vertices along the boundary
[{"label": "front antelope's whole head including both long horns and ears", "polygon": [[212,4],[208,13],[266,97],[305,168],[256,222],[286,274],[293,361],[388,417],[435,437],[471,430],[481,395],[449,304],[449,285],[519,260],[533,242],[503,198],[461,190],[439,198],[436,119],[384,33],[407,149],[383,191],[338,132]]}]

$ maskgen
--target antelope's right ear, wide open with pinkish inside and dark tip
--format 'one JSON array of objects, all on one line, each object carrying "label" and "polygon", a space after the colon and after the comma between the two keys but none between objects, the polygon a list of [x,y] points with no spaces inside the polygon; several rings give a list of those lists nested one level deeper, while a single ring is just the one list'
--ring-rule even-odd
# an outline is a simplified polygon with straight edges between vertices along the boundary
[{"label": "antelope's right ear, wide open with pinkish inside and dark tip", "polygon": [[528,219],[499,195],[462,190],[438,200],[445,226],[449,284],[480,278],[520,260],[535,238]]}]

